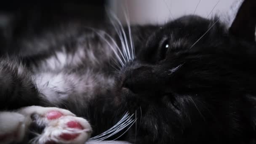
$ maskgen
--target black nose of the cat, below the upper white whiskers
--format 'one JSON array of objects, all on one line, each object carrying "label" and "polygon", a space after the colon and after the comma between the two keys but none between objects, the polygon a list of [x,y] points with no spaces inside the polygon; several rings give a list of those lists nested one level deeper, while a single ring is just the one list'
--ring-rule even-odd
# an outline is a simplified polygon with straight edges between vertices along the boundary
[{"label": "black nose of the cat, below the upper white whiskers", "polygon": [[133,93],[140,93],[151,88],[154,83],[152,68],[138,67],[125,72],[123,87],[130,89]]}]

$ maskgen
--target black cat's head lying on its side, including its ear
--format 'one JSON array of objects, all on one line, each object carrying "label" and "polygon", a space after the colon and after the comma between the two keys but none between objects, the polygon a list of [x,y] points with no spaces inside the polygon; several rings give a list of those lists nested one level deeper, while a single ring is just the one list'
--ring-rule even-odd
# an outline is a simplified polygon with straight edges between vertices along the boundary
[{"label": "black cat's head lying on its side, including its ear", "polygon": [[136,47],[117,78],[121,104],[137,116],[130,141],[255,140],[255,10],[245,0],[229,28],[218,17],[183,16]]}]

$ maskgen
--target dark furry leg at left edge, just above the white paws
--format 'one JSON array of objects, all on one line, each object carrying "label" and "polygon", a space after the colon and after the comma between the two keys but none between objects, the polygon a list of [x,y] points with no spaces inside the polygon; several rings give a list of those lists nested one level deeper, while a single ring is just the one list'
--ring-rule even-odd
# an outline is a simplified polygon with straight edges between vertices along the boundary
[{"label": "dark furry leg at left edge, just above the white paws", "polygon": [[0,111],[50,105],[40,96],[31,72],[17,58],[0,58]]}]

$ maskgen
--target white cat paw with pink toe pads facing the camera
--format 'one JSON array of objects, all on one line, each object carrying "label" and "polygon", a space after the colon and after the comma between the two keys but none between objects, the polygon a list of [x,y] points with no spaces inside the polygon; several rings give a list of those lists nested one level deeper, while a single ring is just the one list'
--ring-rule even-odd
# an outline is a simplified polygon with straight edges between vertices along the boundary
[{"label": "white cat paw with pink toe pads facing the camera", "polygon": [[91,136],[91,125],[72,112],[56,107],[26,107],[19,110],[30,117],[29,130],[35,144],[84,144]]}]

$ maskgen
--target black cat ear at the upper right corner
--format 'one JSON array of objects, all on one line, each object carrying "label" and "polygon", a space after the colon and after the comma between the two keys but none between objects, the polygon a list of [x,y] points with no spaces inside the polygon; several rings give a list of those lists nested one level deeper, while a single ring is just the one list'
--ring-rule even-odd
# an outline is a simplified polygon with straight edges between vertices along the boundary
[{"label": "black cat ear at the upper right corner", "polygon": [[256,0],[244,0],[229,28],[229,33],[235,37],[255,41],[255,27]]}]

